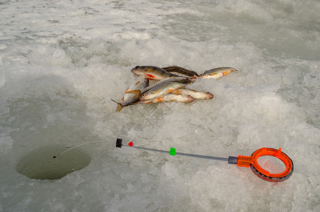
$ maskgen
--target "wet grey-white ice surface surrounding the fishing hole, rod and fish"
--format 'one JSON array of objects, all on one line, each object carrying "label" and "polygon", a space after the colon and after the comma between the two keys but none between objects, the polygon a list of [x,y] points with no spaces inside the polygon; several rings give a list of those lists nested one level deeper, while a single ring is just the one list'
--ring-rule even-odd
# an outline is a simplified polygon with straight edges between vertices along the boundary
[{"label": "wet grey-white ice surface surrounding the fishing hole, rod and fish", "polygon": [[[0,211],[320,211],[318,1],[3,1]],[[137,65],[198,73],[212,100],[125,107]],[[129,129],[126,131],[125,129]],[[227,157],[282,148],[292,177],[265,182]],[[46,145],[76,146],[83,170],[55,181],[16,172]]]}]

